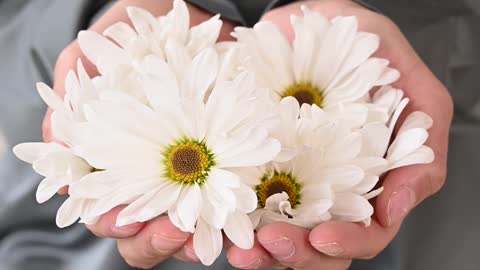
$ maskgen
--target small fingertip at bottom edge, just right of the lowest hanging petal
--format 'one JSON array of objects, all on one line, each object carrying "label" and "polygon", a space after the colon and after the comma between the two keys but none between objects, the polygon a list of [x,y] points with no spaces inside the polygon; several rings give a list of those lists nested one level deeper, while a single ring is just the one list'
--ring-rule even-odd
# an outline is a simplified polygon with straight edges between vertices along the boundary
[{"label": "small fingertip at bottom edge, just right of the lowest hanging petal", "polygon": [[232,246],[227,250],[228,262],[239,269],[269,269],[276,263],[275,259],[255,239],[249,250]]}]

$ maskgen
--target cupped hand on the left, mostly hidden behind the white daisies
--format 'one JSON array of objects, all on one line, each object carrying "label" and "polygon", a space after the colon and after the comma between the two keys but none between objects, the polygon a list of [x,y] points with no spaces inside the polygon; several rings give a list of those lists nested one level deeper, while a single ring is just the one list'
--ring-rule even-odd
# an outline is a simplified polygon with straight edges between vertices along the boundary
[{"label": "cupped hand on the left, mostly hidden behind the white daisies", "polygon": [[[172,8],[172,1],[121,0],[105,13],[89,30],[102,33],[110,25],[123,21],[129,23],[127,6],[137,6],[152,12],[156,16],[164,15]],[[188,5],[190,23],[199,24],[209,19],[212,14]],[[234,25],[224,21],[220,40],[228,40]],[[75,70],[80,58],[90,76],[98,75],[95,66],[82,54],[77,41],[73,41],[60,54],[55,66],[54,89],[58,95],[65,93],[65,78],[70,70]],[[46,142],[55,141],[51,132],[51,110],[43,121],[43,138]],[[66,194],[68,189],[62,188],[59,193]],[[95,225],[87,228],[98,237],[117,239],[118,250],[125,261],[132,267],[151,268],[171,256],[186,262],[199,262],[193,250],[191,234],[177,229],[167,216],[161,216],[146,223],[116,227],[118,213],[125,206],[119,206],[103,215]]]}]

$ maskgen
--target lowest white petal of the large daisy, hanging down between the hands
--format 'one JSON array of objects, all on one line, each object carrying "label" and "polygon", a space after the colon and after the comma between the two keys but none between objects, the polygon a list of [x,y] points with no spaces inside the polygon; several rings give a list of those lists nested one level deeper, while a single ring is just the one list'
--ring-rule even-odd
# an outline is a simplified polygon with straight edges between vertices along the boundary
[{"label": "lowest white petal of the large daisy, hanging down between the hands", "polygon": [[199,219],[193,235],[193,248],[200,261],[204,265],[212,265],[220,256],[222,247],[222,232]]}]

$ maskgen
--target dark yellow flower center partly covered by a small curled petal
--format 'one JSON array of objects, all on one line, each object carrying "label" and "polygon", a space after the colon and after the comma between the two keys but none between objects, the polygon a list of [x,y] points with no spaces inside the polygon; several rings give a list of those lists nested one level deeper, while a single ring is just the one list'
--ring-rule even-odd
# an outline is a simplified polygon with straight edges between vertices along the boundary
[{"label": "dark yellow flower center partly covered by a small curled petal", "polygon": [[271,176],[265,175],[261,182],[260,185],[256,186],[259,207],[265,207],[270,196],[282,192],[288,194],[288,200],[292,208],[300,204],[302,186],[297,183],[292,174],[275,171]]}]

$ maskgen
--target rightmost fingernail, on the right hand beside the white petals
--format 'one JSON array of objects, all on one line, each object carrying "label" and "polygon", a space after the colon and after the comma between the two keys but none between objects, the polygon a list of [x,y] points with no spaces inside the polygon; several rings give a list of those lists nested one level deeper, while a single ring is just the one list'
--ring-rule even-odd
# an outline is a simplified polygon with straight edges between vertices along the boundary
[{"label": "rightmost fingernail, on the right hand beside the white petals", "polygon": [[391,226],[404,218],[416,202],[415,192],[409,187],[402,187],[392,193],[387,205],[387,224]]}]

